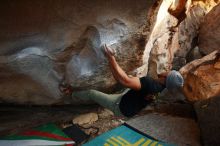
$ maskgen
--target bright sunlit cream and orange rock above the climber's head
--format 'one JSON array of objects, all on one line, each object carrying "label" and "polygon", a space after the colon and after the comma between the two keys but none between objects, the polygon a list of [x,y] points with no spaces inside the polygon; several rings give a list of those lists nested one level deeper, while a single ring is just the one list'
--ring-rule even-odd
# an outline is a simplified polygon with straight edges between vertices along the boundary
[{"label": "bright sunlit cream and orange rock above the climber's head", "polygon": [[218,3],[164,0],[145,47],[145,70],[156,78],[157,73],[185,65],[185,57],[198,45],[198,31],[204,16]]}]

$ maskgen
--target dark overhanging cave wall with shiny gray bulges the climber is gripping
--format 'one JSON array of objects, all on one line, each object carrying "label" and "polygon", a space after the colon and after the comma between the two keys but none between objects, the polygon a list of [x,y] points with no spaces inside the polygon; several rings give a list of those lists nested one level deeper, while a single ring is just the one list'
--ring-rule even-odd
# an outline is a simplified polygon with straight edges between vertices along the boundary
[{"label": "dark overhanging cave wall with shiny gray bulges the climber is gripping", "polygon": [[117,86],[100,46],[116,48],[128,73],[141,66],[141,32],[153,2],[1,1],[0,100],[69,103],[58,90],[62,80],[76,90],[114,90]]}]

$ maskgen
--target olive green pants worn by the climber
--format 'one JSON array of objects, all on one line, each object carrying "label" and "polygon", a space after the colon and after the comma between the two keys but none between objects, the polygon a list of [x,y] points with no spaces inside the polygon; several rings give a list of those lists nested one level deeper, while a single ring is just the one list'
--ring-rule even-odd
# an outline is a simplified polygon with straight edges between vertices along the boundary
[{"label": "olive green pants worn by the climber", "polygon": [[97,90],[85,90],[74,92],[72,97],[77,97],[81,100],[92,100],[99,105],[111,110],[116,116],[122,116],[119,109],[119,103],[121,101],[122,96],[128,91],[125,90],[120,94],[105,94],[103,92]]}]

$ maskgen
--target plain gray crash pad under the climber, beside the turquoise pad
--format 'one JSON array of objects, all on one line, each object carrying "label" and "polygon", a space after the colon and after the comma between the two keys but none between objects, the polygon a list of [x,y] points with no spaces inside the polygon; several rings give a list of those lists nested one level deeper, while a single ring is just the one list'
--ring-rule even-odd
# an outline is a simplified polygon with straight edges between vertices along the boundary
[{"label": "plain gray crash pad under the climber, beside the turquoise pad", "polygon": [[199,128],[193,119],[150,113],[131,119],[127,124],[160,141],[200,146]]}]

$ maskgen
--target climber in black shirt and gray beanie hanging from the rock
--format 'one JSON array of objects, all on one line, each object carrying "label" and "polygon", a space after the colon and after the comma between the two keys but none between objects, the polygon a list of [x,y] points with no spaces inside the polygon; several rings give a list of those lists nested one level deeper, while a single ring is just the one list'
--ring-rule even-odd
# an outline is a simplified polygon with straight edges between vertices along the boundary
[{"label": "climber in black shirt and gray beanie hanging from the rock", "polygon": [[117,116],[131,117],[149,103],[150,95],[161,92],[165,87],[168,90],[174,90],[183,86],[183,78],[177,71],[160,74],[158,75],[159,80],[148,76],[142,78],[128,76],[116,62],[112,49],[105,45],[104,52],[114,78],[128,89],[120,94],[105,94],[96,90],[72,92],[70,86],[63,86],[61,91],[71,94],[72,98],[93,100],[110,109]]}]

